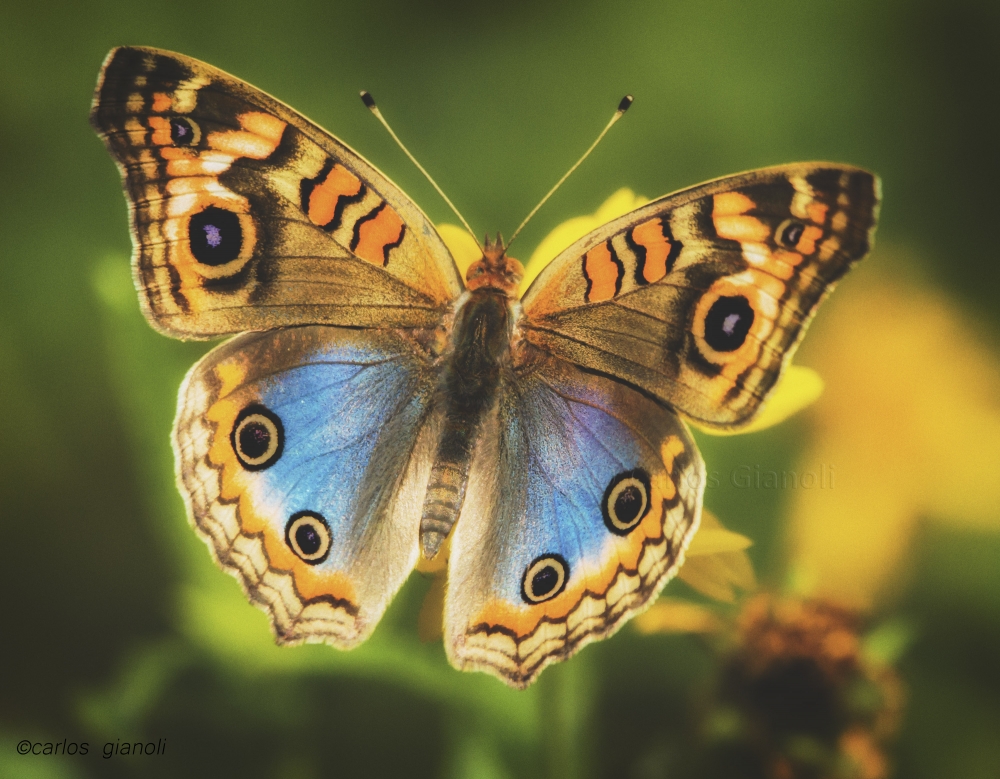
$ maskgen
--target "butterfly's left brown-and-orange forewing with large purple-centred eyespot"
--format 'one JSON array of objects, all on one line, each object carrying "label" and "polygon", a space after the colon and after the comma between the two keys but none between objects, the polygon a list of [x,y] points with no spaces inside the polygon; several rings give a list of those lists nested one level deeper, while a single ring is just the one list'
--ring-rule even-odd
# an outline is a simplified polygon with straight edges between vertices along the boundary
[{"label": "butterfly's left brown-and-orange forewing with large purple-centred eyespot", "polygon": [[392,182],[210,65],[115,49],[91,122],[124,179],[146,316],[168,335],[434,327],[461,293],[437,232]]}]

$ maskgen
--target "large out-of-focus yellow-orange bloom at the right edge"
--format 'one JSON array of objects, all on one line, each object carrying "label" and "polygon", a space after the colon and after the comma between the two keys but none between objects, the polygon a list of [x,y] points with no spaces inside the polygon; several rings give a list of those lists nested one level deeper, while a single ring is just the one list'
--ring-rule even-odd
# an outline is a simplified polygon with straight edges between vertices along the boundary
[{"label": "large out-of-focus yellow-orange bloom at the right edge", "polygon": [[860,269],[805,342],[827,391],[801,470],[833,478],[790,496],[803,594],[861,607],[900,586],[920,518],[1000,531],[996,352],[938,291],[904,282],[905,257],[878,259],[889,270]]}]

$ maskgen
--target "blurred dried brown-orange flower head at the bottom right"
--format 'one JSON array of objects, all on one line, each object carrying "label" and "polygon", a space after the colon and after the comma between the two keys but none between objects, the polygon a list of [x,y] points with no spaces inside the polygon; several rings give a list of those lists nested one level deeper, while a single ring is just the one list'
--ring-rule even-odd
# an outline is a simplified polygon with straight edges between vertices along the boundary
[{"label": "blurred dried brown-orange flower head at the bottom right", "polygon": [[858,612],[830,601],[748,600],[722,658],[707,759],[773,779],[886,777],[901,685],[867,659],[862,627]]}]

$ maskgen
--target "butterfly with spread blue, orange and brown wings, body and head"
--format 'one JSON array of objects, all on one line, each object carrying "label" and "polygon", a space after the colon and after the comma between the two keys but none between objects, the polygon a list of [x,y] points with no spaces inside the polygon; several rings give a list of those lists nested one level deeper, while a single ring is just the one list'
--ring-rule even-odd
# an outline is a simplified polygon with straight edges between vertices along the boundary
[{"label": "butterfly with spread blue, orange and brown wings, body and head", "polygon": [[706,479],[682,418],[757,414],[879,203],[845,165],[717,179],[581,238],[519,298],[501,239],[463,279],[361,155],[210,65],[115,49],[91,121],[146,318],[234,336],[173,431],[219,565],[279,642],[348,649],[448,555],[448,659],[519,688],[677,572]]}]

